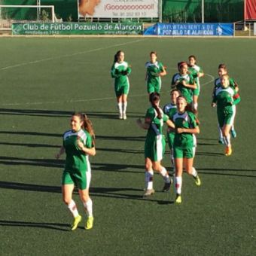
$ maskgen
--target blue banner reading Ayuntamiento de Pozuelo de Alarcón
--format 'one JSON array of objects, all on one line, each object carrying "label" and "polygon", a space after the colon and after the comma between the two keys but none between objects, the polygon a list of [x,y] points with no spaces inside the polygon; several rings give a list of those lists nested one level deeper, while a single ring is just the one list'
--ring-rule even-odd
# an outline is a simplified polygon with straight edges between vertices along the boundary
[{"label": "blue banner reading Ayuntamiento de Pozuelo de Alarc\u00f3n", "polygon": [[144,35],[233,36],[233,23],[157,23]]}]

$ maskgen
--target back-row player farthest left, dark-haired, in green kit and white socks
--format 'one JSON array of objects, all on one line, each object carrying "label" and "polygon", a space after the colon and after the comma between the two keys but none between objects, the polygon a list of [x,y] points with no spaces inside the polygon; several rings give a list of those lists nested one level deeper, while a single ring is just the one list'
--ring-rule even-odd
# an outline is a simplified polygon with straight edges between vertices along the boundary
[{"label": "back-row player farthest left, dark-haired, in green kit and white socks", "polygon": [[126,120],[127,96],[130,90],[128,76],[132,72],[128,62],[124,61],[123,50],[114,55],[114,64],[111,67],[111,77],[114,78],[114,92],[117,97],[119,119]]}]

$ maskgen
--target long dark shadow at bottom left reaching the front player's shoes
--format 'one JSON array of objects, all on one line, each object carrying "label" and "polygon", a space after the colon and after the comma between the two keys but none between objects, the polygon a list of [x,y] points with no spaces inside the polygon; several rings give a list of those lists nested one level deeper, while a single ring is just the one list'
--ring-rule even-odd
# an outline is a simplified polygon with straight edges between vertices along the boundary
[{"label": "long dark shadow at bottom left reaching the front player's shoes", "polygon": [[41,228],[46,228],[46,229],[51,229],[51,230],[69,231],[70,224],[0,220],[0,226],[5,226],[5,227],[41,227]]}]

